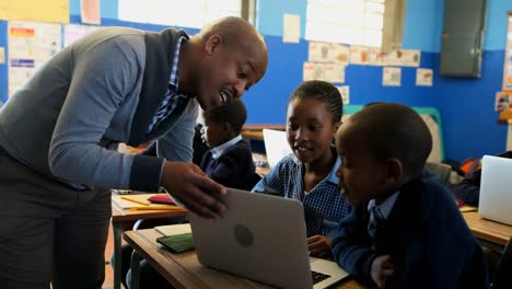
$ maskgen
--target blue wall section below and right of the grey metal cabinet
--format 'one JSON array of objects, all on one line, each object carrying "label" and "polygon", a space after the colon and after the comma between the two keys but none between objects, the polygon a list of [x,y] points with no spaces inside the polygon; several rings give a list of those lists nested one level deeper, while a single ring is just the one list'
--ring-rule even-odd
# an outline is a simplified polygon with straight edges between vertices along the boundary
[{"label": "blue wall section below and right of the grey metal cabinet", "polygon": [[[443,14],[442,5],[439,10]],[[497,122],[494,94],[501,90],[503,78],[508,11],[512,11],[512,1],[488,1],[481,78],[440,78],[435,84],[434,97],[444,122],[449,158],[464,160],[505,150],[507,125]],[[434,38],[440,36],[437,34]],[[439,60],[435,63],[439,71]]]}]

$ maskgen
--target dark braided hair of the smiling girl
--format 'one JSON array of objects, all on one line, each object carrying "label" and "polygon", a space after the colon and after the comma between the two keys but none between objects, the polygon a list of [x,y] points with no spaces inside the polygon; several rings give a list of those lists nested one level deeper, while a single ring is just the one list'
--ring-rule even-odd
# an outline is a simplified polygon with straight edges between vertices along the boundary
[{"label": "dark braided hair of the smiling girl", "polygon": [[322,80],[304,81],[292,92],[288,103],[290,104],[293,100],[304,99],[313,99],[325,103],[333,115],[333,122],[341,122],[344,102],[338,89],[331,83]]}]

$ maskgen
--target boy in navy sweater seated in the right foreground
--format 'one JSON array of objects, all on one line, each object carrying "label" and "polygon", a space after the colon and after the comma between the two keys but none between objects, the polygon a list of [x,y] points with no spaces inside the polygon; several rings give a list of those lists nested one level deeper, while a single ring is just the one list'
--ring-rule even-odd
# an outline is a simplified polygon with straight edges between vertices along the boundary
[{"label": "boy in navy sweater seated in the right foreground", "polygon": [[411,108],[364,107],[336,135],[340,186],[356,206],[331,242],[336,262],[380,288],[488,288],[480,246],[453,197],[422,167],[432,148]]}]

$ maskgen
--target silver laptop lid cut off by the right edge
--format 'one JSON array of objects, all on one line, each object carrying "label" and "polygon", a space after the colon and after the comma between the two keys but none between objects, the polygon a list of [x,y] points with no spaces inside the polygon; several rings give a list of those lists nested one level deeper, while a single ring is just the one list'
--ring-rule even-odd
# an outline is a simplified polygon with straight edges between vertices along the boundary
[{"label": "silver laptop lid cut off by the right edge", "polygon": [[512,159],[484,155],[478,213],[512,226]]}]

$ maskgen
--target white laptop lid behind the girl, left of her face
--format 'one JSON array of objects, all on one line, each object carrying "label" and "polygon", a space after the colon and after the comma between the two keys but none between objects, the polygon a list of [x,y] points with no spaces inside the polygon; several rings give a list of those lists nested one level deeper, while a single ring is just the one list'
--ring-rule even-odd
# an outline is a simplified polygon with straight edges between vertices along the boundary
[{"label": "white laptop lid behind the girl, left of her face", "polygon": [[263,134],[268,166],[270,169],[276,166],[282,158],[290,153],[293,154],[284,131],[264,128]]}]

